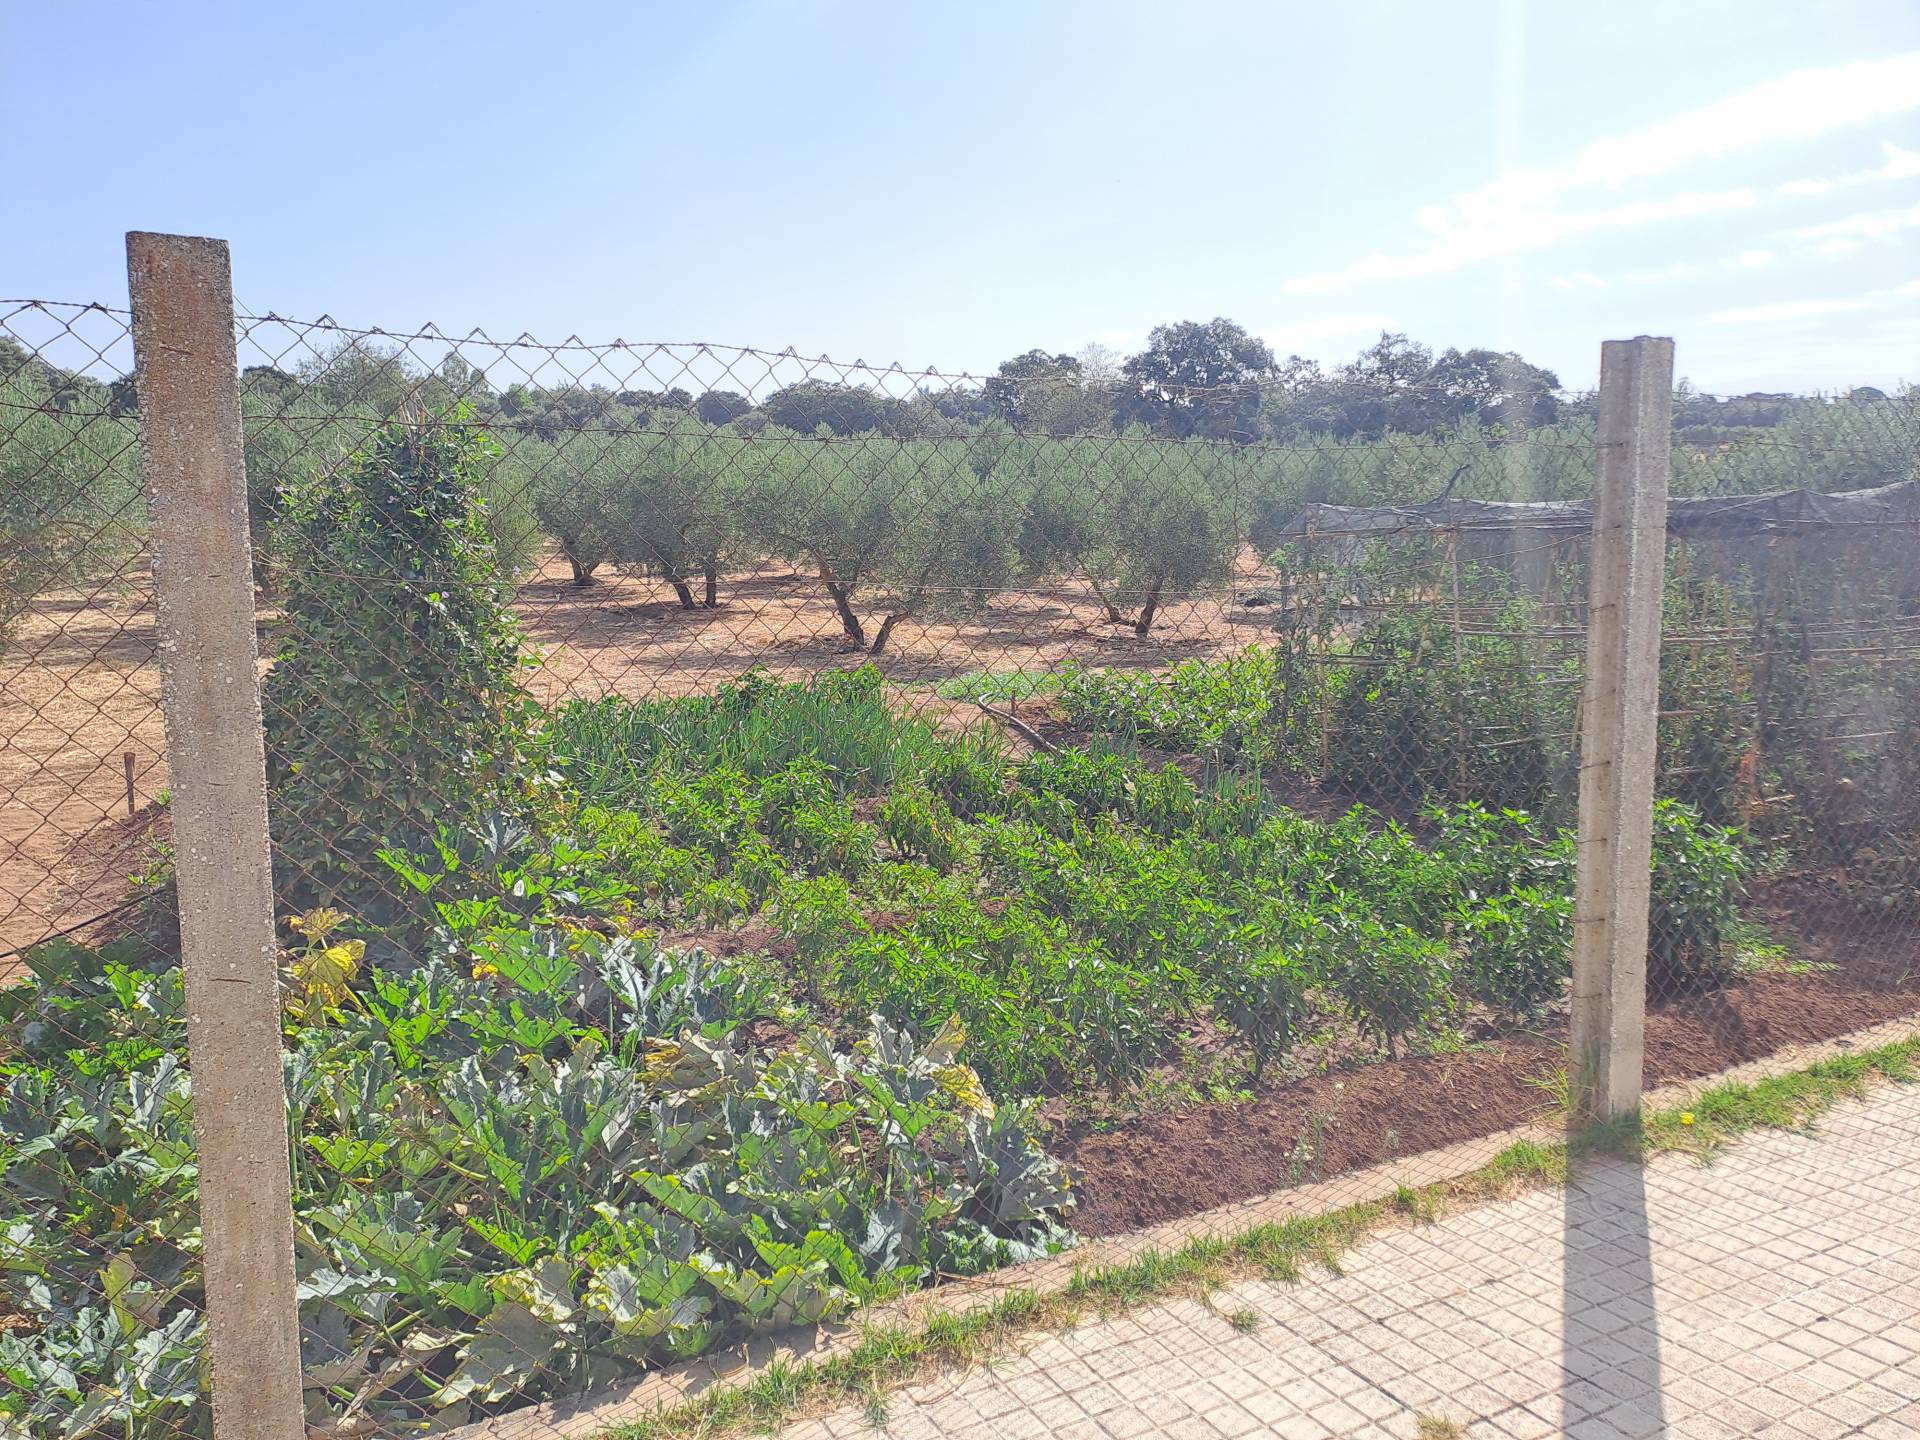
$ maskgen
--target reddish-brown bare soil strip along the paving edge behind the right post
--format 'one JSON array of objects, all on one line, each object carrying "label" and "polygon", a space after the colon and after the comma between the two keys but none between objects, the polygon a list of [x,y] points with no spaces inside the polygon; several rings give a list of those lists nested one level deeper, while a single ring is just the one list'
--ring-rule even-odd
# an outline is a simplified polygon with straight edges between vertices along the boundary
[{"label": "reddish-brown bare soil strip along the paving edge behind the right post", "polygon": [[[1763,887],[1749,914],[1791,937],[1795,960],[1836,970],[1749,975],[1655,1000],[1649,1083],[1920,1012],[1920,931],[1910,922],[1862,925],[1845,900],[1807,879]],[[1075,1173],[1073,1229],[1116,1235],[1538,1119],[1553,1110],[1542,1081],[1565,1060],[1561,1020],[1461,1054],[1290,1081],[1246,1104],[1202,1104],[1106,1131],[1066,1127],[1050,1150]]]}]

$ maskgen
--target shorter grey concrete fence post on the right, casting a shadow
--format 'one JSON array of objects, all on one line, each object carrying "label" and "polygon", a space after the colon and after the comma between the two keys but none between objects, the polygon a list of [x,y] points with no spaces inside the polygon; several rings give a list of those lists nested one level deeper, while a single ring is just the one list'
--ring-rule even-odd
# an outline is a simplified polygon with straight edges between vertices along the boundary
[{"label": "shorter grey concrete fence post on the right, casting a shadow", "polygon": [[1599,349],[1567,1054],[1574,1112],[1590,1119],[1640,1108],[1645,1060],[1672,378],[1672,340]]}]

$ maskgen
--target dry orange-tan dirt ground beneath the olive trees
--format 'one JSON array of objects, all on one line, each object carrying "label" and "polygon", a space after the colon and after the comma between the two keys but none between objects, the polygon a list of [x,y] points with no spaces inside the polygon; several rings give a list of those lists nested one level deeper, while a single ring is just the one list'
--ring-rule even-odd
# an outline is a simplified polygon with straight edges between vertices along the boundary
[{"label": "dry orange-tan dirt ground beneath the olive trees", "polygon": [[[1273,580],[1248,551],[1235,595]],[[574,586],[564,561],[549,557],[520,586],[516,609],[540,653],[528,684],[543,703],[689,695],[755,664],[793,680],[868,659],[849,651],[818,582],[783,564],[722,576],[716,609],[684,611],[660,580],[607,570]],[[856,609],[872,636],[883,616]],[[255,618],[271,653],[275,612]],[[1164,607],[1140,637],[1108,624],[1089,586],[1060,582],[998,595],[962,620],[904,620],[876,662],[912,703],[977,720],[931,685],[1068,659],[1165,666],[1244,649],[1269,626],[1221,595]],[[40,597],[0,655],[0,956],[127,895],[146,851],[123,845],[117,829],[129,814],[123,755],[134,756],[138,810],[167,785],[161,732],[148,576]]]}]

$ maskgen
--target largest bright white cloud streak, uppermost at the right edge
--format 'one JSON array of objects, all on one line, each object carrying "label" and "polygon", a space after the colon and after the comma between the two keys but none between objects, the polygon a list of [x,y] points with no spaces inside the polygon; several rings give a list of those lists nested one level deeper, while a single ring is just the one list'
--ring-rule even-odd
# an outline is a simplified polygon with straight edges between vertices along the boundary
[{"label": "largest bright white cloud streak, uppermost at the right edge", "polygon": [[[1599,230],[1749,209],[1763,198],[1799,192],[1741,186],[1601,205],[1569,207],[1565,202],[1580,192],[1619,190],[1741,150],[1811,140],[1916,108],[1920,52],[1793,71],[1644,131],[1596,140],[1563,165],[1513,169],[1446,204],[1423,205],[1415,221],[1430,244],[1402,253],[1377,252],[1338,271],[1296,276],[1286,290],[1323,294],[1365,280],[1448,275]],[[1857,179],[1901,179],[1910,163],[1920,163],[1920,157],[1889,144],[1885,163],[1876,171],[1807,184],[1837,188]]]}]

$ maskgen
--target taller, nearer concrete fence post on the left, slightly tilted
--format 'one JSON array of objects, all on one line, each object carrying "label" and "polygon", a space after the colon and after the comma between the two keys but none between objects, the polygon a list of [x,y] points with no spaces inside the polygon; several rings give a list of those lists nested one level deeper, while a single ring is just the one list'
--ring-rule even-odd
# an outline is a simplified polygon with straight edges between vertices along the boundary
[{"label": "taller, nearer concrete fence post on the left, slightly tilted", "polygon": [[215,1440],[303,1440],[292,1167],[225,240],[127,236]]}]

